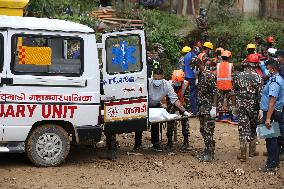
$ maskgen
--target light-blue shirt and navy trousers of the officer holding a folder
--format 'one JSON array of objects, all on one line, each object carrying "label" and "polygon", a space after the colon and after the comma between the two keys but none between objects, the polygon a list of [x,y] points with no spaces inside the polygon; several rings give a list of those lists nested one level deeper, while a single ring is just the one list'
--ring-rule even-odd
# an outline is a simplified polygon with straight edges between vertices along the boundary
[{"label": "light-blue shirt and navy trousers of the officer holding a folder", "polygon": [[[266,119],[270,97],[276,98],[275,110],[272,114],[271,121],[279,122],[280,129],[283,131],[282,108],[284,105],[284,80],[279,73],[269,78],[269,81],[262,91],[260,108],[264,111],[263,123]],[[279,142],[281,142],[281,140],[281,137],[265,139],[268,153],[266,166],[268,168],[276,168],[279,165]]]}]

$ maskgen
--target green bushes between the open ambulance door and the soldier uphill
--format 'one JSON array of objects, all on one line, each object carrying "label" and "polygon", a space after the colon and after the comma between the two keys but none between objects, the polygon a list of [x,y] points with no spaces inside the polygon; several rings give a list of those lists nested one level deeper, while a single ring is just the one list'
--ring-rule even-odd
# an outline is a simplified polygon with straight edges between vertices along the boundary
[{"label": "green bushes between the open ambulance door and the soldier uphill", "polygon": [[144,20],[148,49],[151,50],[155,43],[162,44],[165,49],[161,56],[161,64],[166,68],[166,78],[169,78],[172,70],[177,68],[181,47],[185,37],[195,27],[194,22],[172,13],[150,9],[125,9],[120,11],[119,15]]}]

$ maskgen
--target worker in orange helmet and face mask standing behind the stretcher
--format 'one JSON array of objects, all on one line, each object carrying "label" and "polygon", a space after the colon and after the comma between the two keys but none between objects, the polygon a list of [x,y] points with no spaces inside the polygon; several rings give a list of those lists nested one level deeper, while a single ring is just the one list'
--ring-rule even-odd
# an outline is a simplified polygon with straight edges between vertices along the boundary
[{"label": "worker in orange helmet and face mask standing behind the stretcher", "polygon": [[[172,80],[170,81],[172,83],[172,86],[174,88],[175,93],[178,96],[179,101],[181,104],[184,106],[184,95],[185,92],[189,86],[189,82],[185,80],[185,73],[182,70],[174,70],[172,73]],[[178,109],[175,106],[170,105],[167,108],[169,113],[176,113]],[[182,115],[182,113],[180,112]],[[174,131],[174,124],[175,122],[168,122],[168,127],[167,127],[167,138],[168,142],[166,145],[166,150],[167,151],[172,151],[173,149],[173,131]],[[183,135],[183,144],[181,145],[180,149],[182,151],[184,150],[189,150],[189,122],[188,119],[182,120],[181,121],[182,125],[182,135]]]}]

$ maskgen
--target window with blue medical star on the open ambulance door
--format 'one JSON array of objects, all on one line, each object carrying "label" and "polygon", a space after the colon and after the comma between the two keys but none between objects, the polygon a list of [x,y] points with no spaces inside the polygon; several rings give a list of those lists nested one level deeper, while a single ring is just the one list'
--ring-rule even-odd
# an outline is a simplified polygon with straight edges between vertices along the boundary
[{"label": "window with blue medical star on the open ambulance door", "polygon": [[105,44],[108,74],[133,73],[143,69],[139,35],[109,36]]}]

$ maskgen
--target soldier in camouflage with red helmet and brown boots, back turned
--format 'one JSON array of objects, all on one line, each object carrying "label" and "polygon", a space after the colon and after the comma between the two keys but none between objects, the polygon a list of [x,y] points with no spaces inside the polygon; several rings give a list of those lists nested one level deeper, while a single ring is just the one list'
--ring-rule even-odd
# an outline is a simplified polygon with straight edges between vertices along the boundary
[{"label": "soldier in camouflage with red helmet and brown boots, back turned", "polygon": [[248,55],[242,63],[243,72],[233,79],[233,114],[239,117],[240,154],[237,158],[245,162],[247,157],[247,143],[249,142],[249,156],[258,155],[256,152],[256,127],[258,124],[259,100],[262,90],[262,78],[255,68],[259,66],[257,54]]}]

